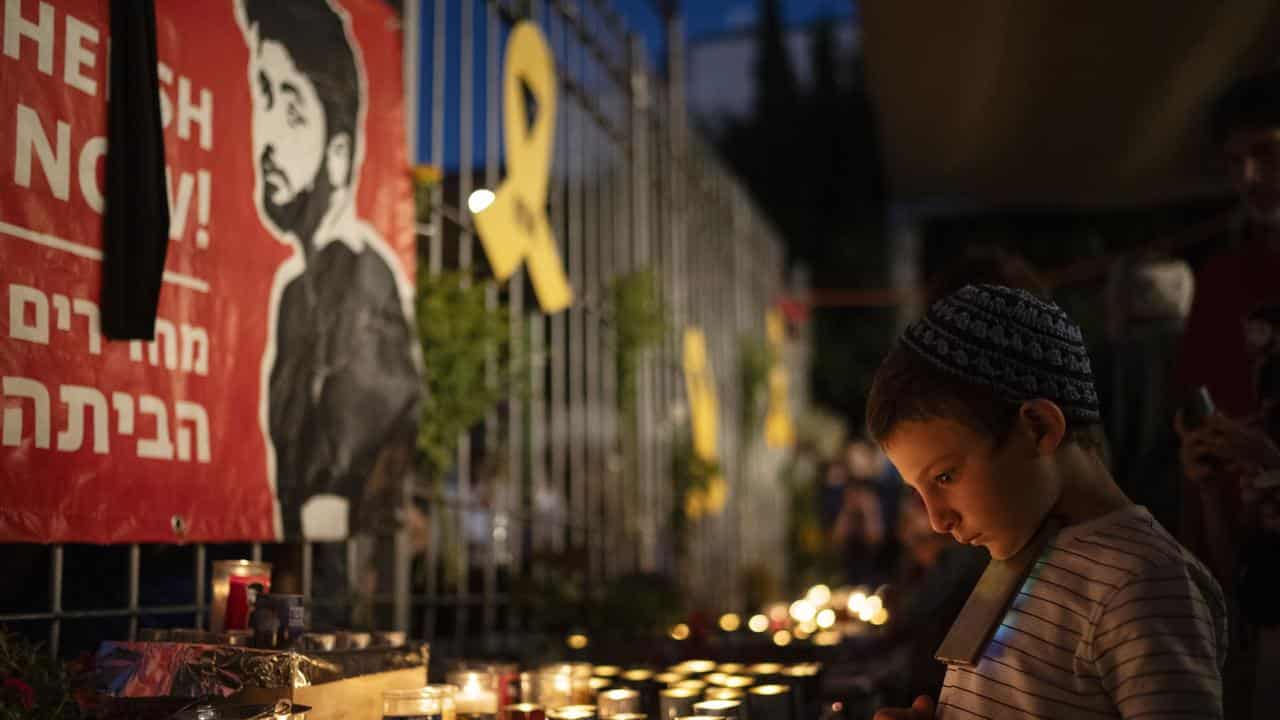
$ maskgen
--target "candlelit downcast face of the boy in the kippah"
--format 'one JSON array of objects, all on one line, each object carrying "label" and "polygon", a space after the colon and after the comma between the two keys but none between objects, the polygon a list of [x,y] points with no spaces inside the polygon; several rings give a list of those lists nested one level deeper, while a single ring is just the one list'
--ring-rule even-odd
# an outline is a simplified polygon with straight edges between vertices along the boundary
[{"label": "candlelit downcast face of the boy in the kippah", "polygon": [[1030,541],[1061,493],[1052,464],[1021,423],[998,448],[955,420],[904,423],[884,452],[920,495],[934,532],[1006,560]]}]

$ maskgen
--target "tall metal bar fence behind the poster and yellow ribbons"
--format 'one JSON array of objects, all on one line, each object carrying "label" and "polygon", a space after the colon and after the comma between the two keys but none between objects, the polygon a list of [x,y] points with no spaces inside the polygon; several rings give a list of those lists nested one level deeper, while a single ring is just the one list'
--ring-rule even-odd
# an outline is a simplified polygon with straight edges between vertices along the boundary
[{"label": "tall metal bar fence behind the poster and yellow ribbons", "polygon": [[[534,20],[557,64],[549,218],[576,301],[541,314],[522,272],[489,291],[493,306],[509,309],[511,337],[529,359],[526,391],[460,438],[443,493],[428,479],[407,488],[402,529],[337,544],[265,546],[265,555],[293,568],[294,589],[337,621],[355,623],[358,614],[364,624],[407,629],[460,652],[477,643],[509,648],[536,632],[539,619],[517,591],[529,580],[557,582],[557,568],[571,569],[566,582],[582,594],[620,575],[652,571],[677,578],[698,606],[745,610],[744,568],[780,579],[786,570],[782,454],[736,423],[741,340],[764,334],[765,310],[782,293],[783,252],[742,187],[689,131],[678,20],[669,26],[673,72],[662,79],[607,0],[403,6],[411,143],[419,126],[428,138],[421,152],[411,151],[447,176],[435,191],[438,210],[417,231],[420,261],[433,272],[484,261],[467,197],[502,178],[502,47],[513,23]],[[637,452],[627,462],[618,451],[623,427],[608,295],[611,282],[639,269],[659,278],[671,328],[641,366]],[[694,523],[687,551],[677,556],[669,459],[687,415],[681,369],[687,325],[707,334],[730,487],[724,511]],[[803,347],[795,352],[792,360],[803,361]],[[792,372],[792,387],[800,386]],[[803,404],[803,392],[792,395]],[[19,591],[18,606],[0,606],[0,624],[47,625],[51,650],[67,653],[77,650],[63,642],[68,623],[91,624],[81,633],[90,639],[133,638],[140,624],[202,626],[212,559],[260,559],[264,546],[5,546],[4,552],[22,552],[28,564],[47,561],[49,583]],[[102,588],[95,607],[64,605],[68,553],[84,559],[77,583]],[[156,560],[143,562],[145,555]],[[156,589],[148,565],[180,579]],[[337,578],[319,566],[337,569]]]}]

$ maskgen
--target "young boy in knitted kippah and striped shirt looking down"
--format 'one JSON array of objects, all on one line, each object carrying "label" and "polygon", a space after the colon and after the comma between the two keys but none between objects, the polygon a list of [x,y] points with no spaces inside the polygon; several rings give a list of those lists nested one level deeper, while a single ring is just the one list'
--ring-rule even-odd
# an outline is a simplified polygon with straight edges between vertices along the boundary
[{"label": "young boy in knitted kippah and striped shirt looking down", "polygon": [[1210,573],[1116,487],[1080,328],[1056,305],[966,286],[910,325],[868,428],[938,533],[1007,560],[1048,541],[974,666],[937,705],[877,720],[1221,717],[1226,609]]}]

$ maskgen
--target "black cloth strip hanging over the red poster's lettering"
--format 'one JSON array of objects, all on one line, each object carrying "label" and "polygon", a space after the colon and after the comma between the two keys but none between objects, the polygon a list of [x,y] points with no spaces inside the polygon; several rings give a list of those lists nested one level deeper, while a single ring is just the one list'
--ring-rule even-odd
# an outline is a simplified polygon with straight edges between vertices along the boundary
[{"label": "black cloth strip hanging over the red poster's lettering", "polygon": [[154,0],[111,0],[102,334],[152,340],[169,249]]}]

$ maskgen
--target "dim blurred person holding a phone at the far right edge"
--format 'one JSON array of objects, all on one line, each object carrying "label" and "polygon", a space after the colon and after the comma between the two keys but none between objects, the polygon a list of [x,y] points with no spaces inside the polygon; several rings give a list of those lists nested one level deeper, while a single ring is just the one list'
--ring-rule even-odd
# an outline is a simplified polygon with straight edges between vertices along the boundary
[{"label": "dim blurred person holding a phone at the far right edge", "polygon": [[1280,314],[1280,72],[1238,82],[1212,120],[1239,206],[1197,272],[1175,400],[1203,386],[1219,413],[1198,427],[1178,413],[1174,424],[1185,478],[1181,539],[1231,601],[1225,702],[1228,716],[1245,717],[1280,702],[1275,683],[1257,682],[1280,666],[1280,638],[1258,630],[1277,623],[1280,606],[1271,510],[1280,479],[1280,354],[1272,340]]}]

